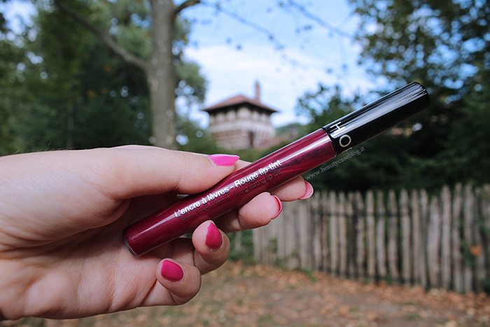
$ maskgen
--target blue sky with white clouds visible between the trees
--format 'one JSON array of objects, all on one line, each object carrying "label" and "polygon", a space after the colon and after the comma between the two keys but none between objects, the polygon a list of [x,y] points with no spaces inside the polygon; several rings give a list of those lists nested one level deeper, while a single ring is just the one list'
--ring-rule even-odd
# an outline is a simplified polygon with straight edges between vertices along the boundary
[{"label": "blue sky with white clouds visible between the trees", "polygon": [[[200,4],[182,12],[193,22],[186,57],[200,64],[208,80],[204,105],[190,111],[202,127],[208,116],[200,109],[239,94],[254,97],[255,81],[262,102],[279,111],[272,116],[276,127],[307,123],[295,115],[295,105],[318,83],[341,85],[346,95],[374,87],[358,67],[360,46],[353,41],[358,19],[345,0],[296,0],[304,11],[279,2],[223,0],[222,11]],[[0,6],[14,24],[35,13],[29,2]]]}]

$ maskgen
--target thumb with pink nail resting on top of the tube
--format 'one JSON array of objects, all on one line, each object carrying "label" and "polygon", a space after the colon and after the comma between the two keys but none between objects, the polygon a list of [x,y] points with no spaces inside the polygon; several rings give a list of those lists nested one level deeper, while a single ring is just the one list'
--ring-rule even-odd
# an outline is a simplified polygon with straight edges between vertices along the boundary
[{"label": "thumb with pink nail resting on top of the tube", "polygon": [[113,199],[169,191],[199,193],[233,172],[239,159],[237,155],[201,155],[151,146],[92,151],[102,160],[92,183]]}]

